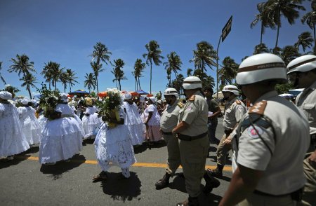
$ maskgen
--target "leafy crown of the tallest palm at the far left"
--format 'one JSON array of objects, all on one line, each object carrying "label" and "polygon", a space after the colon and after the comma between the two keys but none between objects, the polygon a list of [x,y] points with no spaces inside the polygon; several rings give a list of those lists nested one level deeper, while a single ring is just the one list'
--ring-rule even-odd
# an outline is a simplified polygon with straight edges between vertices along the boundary
[{"label": "leafy crown of the tallest palm at the far left", "polygon": [[16,59],[12,58],[11,62],[13,62],[13,64],[10,66],[10,69],[8,69],[10,73],[15,71],[18,72],[18,76],[20,76],[21,73],[25,76],[32,71],[37,72],[34,69],[34,62],[29,62],[29,57],[25,54],[16,55]]}]

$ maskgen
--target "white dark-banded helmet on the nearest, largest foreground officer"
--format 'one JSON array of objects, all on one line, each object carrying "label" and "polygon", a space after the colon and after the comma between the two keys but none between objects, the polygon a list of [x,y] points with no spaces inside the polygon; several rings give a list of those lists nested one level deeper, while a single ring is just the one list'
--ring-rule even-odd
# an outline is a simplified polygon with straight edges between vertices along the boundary
[{"label": "white dark-banded helmet on the nearest, largest foreground officer", "polygon": [[287,69],[277,55],[263,53],[242,61],[236,76],[236,83],[247,85],[265,80],[287,82]]}]

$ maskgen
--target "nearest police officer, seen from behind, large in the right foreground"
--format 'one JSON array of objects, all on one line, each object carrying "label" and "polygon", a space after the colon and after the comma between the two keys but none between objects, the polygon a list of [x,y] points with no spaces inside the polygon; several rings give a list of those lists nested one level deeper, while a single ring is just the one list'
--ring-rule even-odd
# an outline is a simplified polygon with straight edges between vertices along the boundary
[{"label": "nearest police officer, seen from behind, large in the right foreground", "polygon": [[236,82],[254,104],[232,140],[232,179],[219,205],[296,205],[304,186],[303,159],[310,144],[308,121],[279,97],[287,81],[277,55],[258,54],[240,64]]}]

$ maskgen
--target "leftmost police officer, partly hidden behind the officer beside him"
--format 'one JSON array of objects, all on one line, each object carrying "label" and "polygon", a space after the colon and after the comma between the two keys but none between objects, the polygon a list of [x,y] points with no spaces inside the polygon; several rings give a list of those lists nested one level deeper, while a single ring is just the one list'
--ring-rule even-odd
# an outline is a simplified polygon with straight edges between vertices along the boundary
[{"label": "leftmost police officer, partly hidden behind the officer beside him", "polygon": [[157,189],[165,188],[169,185],[170,177],[180,166],[180,151],[178,139],[172,135],[173,128],[178,124],[178,115],[184,104],[178,100],[178,91],[175,88],[168,88],[164,91],[164,98],[168,106],[164,110],[160,118],[160,132],[167,144],[168,160],[166,167],[166,174],[155,184]]}]

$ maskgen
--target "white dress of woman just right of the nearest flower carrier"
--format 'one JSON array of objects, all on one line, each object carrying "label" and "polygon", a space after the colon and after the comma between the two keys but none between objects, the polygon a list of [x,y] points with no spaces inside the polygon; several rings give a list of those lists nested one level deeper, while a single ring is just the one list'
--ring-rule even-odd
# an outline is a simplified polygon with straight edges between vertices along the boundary
[{"label": "white dress of woman just right of the nearest flower carrier", "polygon": [[129,128],[132,144],[142,144],[145,140],[145,127],[138,113],[138,107],[135,103],[129,104],[128,102],[124,102],[123,107],[126,110],[124,124]]}]

